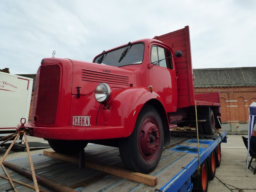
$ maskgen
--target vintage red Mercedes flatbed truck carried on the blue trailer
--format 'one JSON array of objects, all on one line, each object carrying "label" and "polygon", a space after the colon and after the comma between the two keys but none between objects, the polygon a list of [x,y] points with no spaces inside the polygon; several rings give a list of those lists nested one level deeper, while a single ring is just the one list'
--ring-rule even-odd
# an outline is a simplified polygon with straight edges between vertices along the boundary
[{"label": "vintage red Mercedes flatbed truck carried on the blue trailer", "polygon": [[116,146],[126,168],[148,173],[170,146],[170,129],[195,126],[195,100],[199,133],[220,127],[219,93],[195,94],[193,80],[188,26],[103,51],[92,62],[46,58],[31,122],[18,130],[65,154],[88,142]]}]

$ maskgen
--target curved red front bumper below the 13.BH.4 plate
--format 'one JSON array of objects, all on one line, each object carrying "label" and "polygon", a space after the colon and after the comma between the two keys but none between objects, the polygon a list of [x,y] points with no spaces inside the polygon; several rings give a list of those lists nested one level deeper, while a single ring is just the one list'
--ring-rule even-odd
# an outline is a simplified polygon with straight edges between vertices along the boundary
[{"label": "curved red front bumper below the 13.BH.4 plate", "polygon": [[29,135],[44,139],[57,140],[100,140],[124,137],[124,127],[92,125],[83,126],[63,126],[63,127],[35,127],[31,123],[17,126],[17,131],[25,129]]}]

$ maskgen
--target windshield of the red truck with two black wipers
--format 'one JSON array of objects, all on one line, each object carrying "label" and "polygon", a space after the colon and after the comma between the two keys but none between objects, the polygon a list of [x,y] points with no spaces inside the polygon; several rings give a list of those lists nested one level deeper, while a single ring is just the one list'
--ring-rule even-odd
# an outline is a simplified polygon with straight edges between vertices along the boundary
[{"label": "windshield of the red truck with two black wipers", "polygon": [[144,55],[143,43],[129,44],[128,46],[122,47],[120,49],[116,49],[114,51],[101,54],[93,62],[120,67],[124,65],[142,63],[143,55]]}]

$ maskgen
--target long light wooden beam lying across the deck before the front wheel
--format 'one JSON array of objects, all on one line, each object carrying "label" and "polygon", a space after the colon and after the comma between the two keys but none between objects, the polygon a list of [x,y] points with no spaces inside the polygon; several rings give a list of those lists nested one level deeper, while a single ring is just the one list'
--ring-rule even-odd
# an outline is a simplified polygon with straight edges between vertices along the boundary
[{"label": "long light wooden beam lying across the deck before the front wheel", "polygon": [[[57,159],[61,159],[63,161],[68,161],[71,163],[78,164],[79,160],[77,158],[74,158],[72,156],[66,156],[60,153],[56,153],[54,151],[46,151],[44,150],[44,155],[51,156]],[[105,172],[108,174],[112,174],[118,177],[123,177],[125,179],[137,181],[140,183],[144,183],[150,186],[156,186],[157,185],[157,177],[153,177],[150,175],[142,174],[142,173],[137,173],[137,172],[132,172],[132,171],[127,171],[124,169],[116,168],[113,166],[108,166],[108,165],[99,165],[99,164],[94,164],[91,162],[84,162],[84,166],[95,169],[97,171]]]}]

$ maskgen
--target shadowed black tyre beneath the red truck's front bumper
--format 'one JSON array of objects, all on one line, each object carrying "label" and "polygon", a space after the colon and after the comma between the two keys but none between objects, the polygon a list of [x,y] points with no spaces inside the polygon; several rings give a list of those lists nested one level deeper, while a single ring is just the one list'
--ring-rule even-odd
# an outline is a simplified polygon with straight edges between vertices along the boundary
[{"label": "shadowed black tyre beneath the red truck's front bumper", "polygon": [[50,147],[57,153],[76,154],[88,144],[85,140],[53,140],[49,139]]}]

